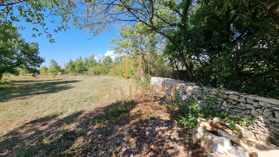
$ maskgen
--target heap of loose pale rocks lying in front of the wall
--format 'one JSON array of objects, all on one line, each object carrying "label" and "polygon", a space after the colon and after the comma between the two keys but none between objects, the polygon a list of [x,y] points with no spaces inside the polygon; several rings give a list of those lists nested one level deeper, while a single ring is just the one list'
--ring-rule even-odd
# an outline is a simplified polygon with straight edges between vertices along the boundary
[{"label": "heap of loose pale rocks lying in front of the wall", "polygon": [[279,147],[273,144],[238,138],[230,128],[212,120],[199,118],[198,124],[192,130],[193,141],[201,142],[208,157],[279,157]]}]

